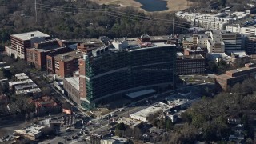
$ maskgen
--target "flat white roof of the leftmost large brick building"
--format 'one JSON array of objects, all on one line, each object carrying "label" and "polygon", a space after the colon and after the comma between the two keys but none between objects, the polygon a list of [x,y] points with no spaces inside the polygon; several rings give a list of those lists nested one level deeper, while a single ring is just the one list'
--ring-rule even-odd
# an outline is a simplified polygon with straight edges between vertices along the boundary
[{"label": "flat white roof of the leftmost large brick building", "polygon": [[13,34],[11,36],[22,39],[23,41],[30,40],[31,38],[34,38],[34,37],[38,37],[38,38],[50,37],[50,35],[44,34],[40,31],[31,31],[28,33]]}]

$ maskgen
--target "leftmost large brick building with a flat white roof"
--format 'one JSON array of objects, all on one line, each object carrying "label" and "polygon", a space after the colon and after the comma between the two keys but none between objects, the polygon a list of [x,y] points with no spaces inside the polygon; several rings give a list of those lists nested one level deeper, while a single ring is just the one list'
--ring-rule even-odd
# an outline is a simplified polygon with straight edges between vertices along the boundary
[{"label": "leftmost large brick building with a flat white roof", "polygon": [[26,59],[26,49],[34,45],[34,42],[49,39],[50,35],[43,34],[40,31],[32,31],[22,34],[10,35],[11,46],[6,46],[6,54],[13,55],[14,58]]}]

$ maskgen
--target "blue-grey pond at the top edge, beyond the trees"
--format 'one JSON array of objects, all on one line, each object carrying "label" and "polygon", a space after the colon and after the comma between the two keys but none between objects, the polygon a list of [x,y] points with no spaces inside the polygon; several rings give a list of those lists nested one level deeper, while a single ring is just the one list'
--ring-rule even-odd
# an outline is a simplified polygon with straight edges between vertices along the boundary
[{"label": "blue-grey pond at the top edge, beyond the trees", "polygon": [[164,11],[168,10],[167,2],[163,0],[135,0],[142,4],[141,8],[153,12],[153,11]]}]

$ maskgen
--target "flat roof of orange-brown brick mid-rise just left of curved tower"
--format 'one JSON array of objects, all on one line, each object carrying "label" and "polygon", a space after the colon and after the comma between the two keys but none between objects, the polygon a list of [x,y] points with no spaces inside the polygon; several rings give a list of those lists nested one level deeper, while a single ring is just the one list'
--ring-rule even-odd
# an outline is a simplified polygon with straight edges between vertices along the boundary
[{"label": "flat roof of orange-brown brick mid-rise just left of curved tower", "polygon": [[78,53],[77,51],[71,51],[64,54],[58,54],[54,56],[55,61],[62,61],[62,62],[68,62],[73,59],[82,58],[81,53]]}]

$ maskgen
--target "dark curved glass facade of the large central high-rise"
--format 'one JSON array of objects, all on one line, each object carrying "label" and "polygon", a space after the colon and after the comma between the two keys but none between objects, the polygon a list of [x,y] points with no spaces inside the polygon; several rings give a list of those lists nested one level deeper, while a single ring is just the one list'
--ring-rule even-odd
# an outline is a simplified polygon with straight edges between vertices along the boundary
[{"label": "dark curved glass facade of the large central high-rise", "polygon": [[102,98],[136,88],[174,86],[175,56],[175,46],[169,45],[85,57],[86,101],[81,99],[82,106],[91,109]]}]

